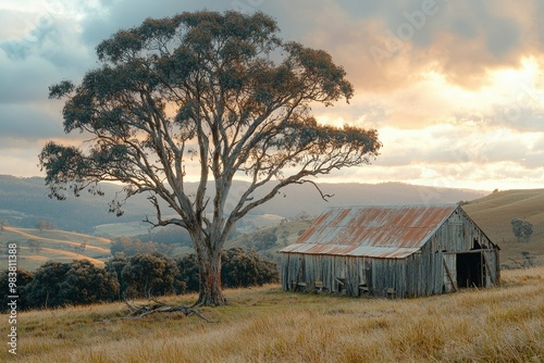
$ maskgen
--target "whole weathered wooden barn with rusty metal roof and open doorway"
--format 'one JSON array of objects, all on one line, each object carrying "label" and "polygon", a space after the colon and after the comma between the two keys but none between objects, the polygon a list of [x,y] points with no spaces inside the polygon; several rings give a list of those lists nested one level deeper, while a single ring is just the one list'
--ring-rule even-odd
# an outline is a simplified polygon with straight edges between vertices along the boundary
[{"label": "whole weathered wooden barn with rusty metal roof and open doorway", "polygon": [[391,298],[490,287],[498,252],[457,204],[330,208],[280,250],[282,286]]}]

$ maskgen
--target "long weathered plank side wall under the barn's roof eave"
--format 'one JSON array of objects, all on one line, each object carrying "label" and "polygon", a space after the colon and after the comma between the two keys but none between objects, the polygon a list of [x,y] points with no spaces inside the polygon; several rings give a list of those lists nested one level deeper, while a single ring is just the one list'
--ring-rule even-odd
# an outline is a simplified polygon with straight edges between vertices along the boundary
[{"label": "long weathered plank side wall under the barn's roof eave", "polygon": [[442,253],[407,259],[284,253],[284,290],[407,298],[443,292]]}]

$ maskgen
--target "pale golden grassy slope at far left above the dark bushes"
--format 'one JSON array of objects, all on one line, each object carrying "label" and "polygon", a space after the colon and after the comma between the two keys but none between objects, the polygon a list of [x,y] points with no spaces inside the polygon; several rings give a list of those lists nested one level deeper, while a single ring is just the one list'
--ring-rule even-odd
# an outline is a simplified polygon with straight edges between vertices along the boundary
[{"label": "pale golden grassy slope at far left above the dark bushes", "polygon": [[[33,239],[41,243],[39,253],[30,250],[28,240]],[[3,227],[0,231],[0,242],[2,249],[5,243],[16,242],[20,248],[17,267],[28,271],[35,271],[50,260],[72,262],[87,259],[103,266],[106,259],[110,255],[109,239],[58,229],[40,231],[34,228]],[[85,251],[78,250],[82,243],[87,243]],[[7,255],[2,253],[0,259],[0,270],[5,270],[8,267]]]}]

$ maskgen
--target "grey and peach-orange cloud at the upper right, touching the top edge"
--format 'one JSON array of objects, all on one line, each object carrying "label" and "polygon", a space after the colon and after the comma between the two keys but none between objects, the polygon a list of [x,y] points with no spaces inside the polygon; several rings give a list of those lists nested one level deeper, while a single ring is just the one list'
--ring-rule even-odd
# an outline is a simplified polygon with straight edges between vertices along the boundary
[{"label": "grey and peach-orange cloud at the upper right, touching the top edge", "polygon": [[282,3],[288,34],[330,50],[367,89],[401,87],[430,67],[479,88],[490,68],[517,66],[535,50],[541,33],[536,0]]}]

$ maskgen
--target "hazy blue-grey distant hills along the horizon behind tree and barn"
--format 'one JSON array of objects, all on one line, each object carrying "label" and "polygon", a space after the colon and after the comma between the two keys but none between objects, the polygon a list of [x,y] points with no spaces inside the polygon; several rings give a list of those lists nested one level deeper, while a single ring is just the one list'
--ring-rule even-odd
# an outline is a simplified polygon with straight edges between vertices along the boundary
[{"label": "hazy blue-grey distant hills along the horizon behind tree and barn", "polygon": [[[234,183],[231,201],[227,208],[234,205],[235,198],[245,191],[246,183]],[[187,190],[196,189],[197,184],[188,184]],[[124,205],[125,214],[115,217],[108,213],[108,202],[121,186],[101,184],[104,197],[83,192],[79,198],[69,197],[58,201],[48,197],[44,178],[21,178],[0,175],[0,220],[8,220],[15,227],[32,228],[39,220],[53,222],[64,230],[75,230],[94,234],[97,230],[120,235],[122,233],[139,234],[146,230],[141,220],[146,215],[153,216],[153,209],[146,196],[135,196]],[[289,186],[280,196],[251,212],[256,215],[269,215],[275,218],[293,218],[301,215],[318,215],[331,205],[362,204],[425,204],[455,203],[461,200],[473,200],[485,195],[483,191],[433,188],[413,186],[401,183],[385,184],[320,184],[324,193],[334,195],[329,202],[320,198],[311,185]],[[210,183],[208,190],[213,190]],[[96,226],[100,226],[96,229]],[[118,233],[119,231],[119,233]]]}]

